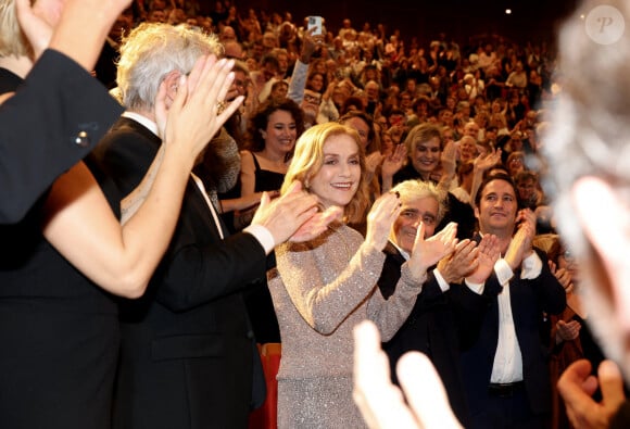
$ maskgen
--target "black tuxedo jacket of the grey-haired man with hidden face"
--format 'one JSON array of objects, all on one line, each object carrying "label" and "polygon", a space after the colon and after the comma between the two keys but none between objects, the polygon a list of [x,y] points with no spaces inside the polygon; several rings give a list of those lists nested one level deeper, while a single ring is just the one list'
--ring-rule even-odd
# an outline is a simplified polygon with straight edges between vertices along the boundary
[{"label": "black tuxedo jacket of the grey-haired man with hidden face", "polygon": [[[94,154],[127,194],[160,144],[123,117]],[[264,381],[241,289],[265,269],[264,249],[253,236],[220,239],[190,179],[147,293],[122,304],[115,428],[247,427],[252,389],[262,402]]]}]

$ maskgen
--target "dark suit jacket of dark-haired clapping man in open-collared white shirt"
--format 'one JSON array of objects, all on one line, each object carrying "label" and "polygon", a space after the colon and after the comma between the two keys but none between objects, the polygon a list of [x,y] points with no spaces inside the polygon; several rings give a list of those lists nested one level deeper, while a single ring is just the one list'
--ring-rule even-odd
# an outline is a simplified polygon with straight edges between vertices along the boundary
[{"label": "dark suit jacket of dark-haired clapping man in open-collared white shirt", "polygon": [[[546,265],[546,255],[534,249],[542,264],[536,279],[520,278],[520,269],[509,280],[509,302],[516,328],[516,337],[522,355],[522,377],[529,405],[534,414],[551,411],[551,386],[549,377],[549,350],[540,335],[543,312],[559,314],[566,306],[566,293]],[[486,282],[487,287],[499,288],[496,275]],[[472,415],[487,408],[488,384],[492,375],[494,354],[499,342],[499,299],[491,301],[486,313],[479,339],[462,356],[464,380],[468,404]]]}]

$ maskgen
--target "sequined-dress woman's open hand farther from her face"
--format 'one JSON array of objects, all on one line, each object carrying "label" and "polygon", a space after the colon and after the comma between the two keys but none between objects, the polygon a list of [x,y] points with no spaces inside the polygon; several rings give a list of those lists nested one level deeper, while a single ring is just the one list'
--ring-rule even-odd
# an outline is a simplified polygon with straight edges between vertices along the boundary
[{"label": "sequined-dress woman's open hand farther from her face", "polygon": [[425,224],[420,222],[408,263],[412,276],[421,278],[430,266],[453,253],[457,245],[456,234],[457,224],[451,222],[440,232],[425,240]]}]

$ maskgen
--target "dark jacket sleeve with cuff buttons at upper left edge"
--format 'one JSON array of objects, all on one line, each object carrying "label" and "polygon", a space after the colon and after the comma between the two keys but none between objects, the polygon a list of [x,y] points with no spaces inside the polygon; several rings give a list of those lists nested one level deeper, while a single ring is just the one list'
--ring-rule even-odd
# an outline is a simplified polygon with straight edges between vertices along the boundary
[{"label": "dark jacket sleeve with cuff buttons at upper left edge", "polygon": [[121,112],[83,67],[46,51],[15,96],[0,106],[0,224],[21,220]]}]

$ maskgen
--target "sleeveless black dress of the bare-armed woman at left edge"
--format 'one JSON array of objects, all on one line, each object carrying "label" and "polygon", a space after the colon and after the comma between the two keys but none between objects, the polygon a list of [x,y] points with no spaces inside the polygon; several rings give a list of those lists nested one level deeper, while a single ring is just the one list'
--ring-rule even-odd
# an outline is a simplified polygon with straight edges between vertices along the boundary
[{"label": "sleeveless black dress of the bare-armed woman at left edge", "polygon": [[[21,81],[0,68],[1,92]],[[118,192],[93,174],[119,216]],[[0,226],[0,427],[109,429],[117,307],[46,241],[45,201]]]}]

